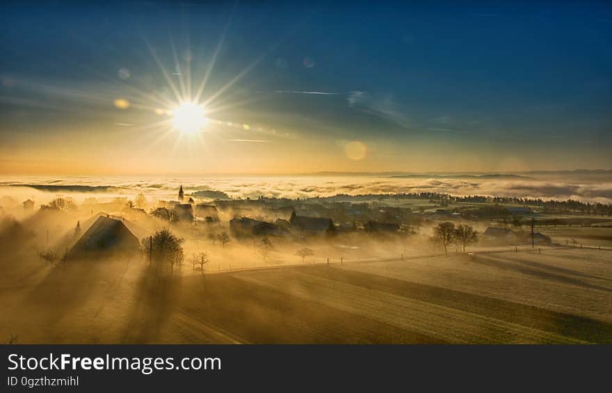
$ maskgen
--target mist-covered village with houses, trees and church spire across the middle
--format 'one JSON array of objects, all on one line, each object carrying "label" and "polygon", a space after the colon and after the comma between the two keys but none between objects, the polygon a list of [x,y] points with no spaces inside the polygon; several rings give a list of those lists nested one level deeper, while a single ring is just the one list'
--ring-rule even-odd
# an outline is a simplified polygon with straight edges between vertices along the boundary
[{"label": "mist-covered village with houses, trees and church spire across the middle", "polygon": [[[207,198],[211,194],[217,198]],[[297,249],[291,255],[297,255],[304,262],[307,257],[314,259],[311,246],[321,243],[325,246],[337,243],[336,247],[348,251],[358,249],[359,254],[367,253],[364,245],[373,240],[378,243],[377,247],[382,242],[384,248],[386,242],[391,249],[396,243],[426,239],[430,250],[438,252],[448,252],[447,248],[453,245],[463,251],[466,246],[476,245],[551,246],[551,237],[538,228],[571,227],[572,222],[576,226],[591,225],[598,219],[595,214],[593,217],[567,216],[565,220],[551,218],[549,211],[527,204],[476,200],[453,205],[453,200],[445,195],[425,197],[430,199],[417,200],[420,204],[398,204],[410,198],[402,200],[396,195],[389,198],[347,196],[348,200],[232,199],[222,192],[186,194],[181,186],[176,200],[156,202],[147,200],[143,193],[134,200],[114,198],[101,202],[88,198],[80,205],[70,197],[58,196],[35,209],[35,202],[29,199],[22,203],[20,224],[24,232],[31,232],[31,248],[50,262],[129,255],[153,261],[168,259],[172,271],[175,262],[182,266],[191,261],[193,269],[204,271],[202,261],[210,259],[209,248],[217,245],[225,248],[227,243],[253,246],[263,259],[268,250],[295,246]],[[604,214],[601,216],[605,220]],[[160,232],[163,230],[166,232]],[[158,239],[159,236],[169,239]],[[153,239],[161,241],[160,245],[154,245]],[[166,255],[168,250],[156,250],[156,247],[163,248],[166,241],[177,242],[180,255]],[[564,242],[580,245],[576,239]],[[202,246],[207,243],[208,246]],[[404,255],[405,246],[402,248],[393,251],[394,255],[408,256]],[[344,251],[341,253],[345,254]],[[156,253],[159,258],[155,257]],[[324,261],[338,259],[337,252],[325,253],[328,255],[319,255]],[[389,257],[389,253],[385,256]],[[351,255],[340,258],[347,257],[350,259]]]}]

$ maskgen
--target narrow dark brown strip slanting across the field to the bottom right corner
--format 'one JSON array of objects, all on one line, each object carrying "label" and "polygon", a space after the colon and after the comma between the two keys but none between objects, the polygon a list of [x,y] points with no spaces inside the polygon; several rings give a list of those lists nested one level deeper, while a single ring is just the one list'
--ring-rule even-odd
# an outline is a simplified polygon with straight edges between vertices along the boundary
[{"label": "narrow dark brown strip slanting across the field to the bottom right corner", "polygon": [[472,312],[587,342],[612,344],[612,324],[584,316],[344,268],[300,266],[296,270],[320,278]]}]

